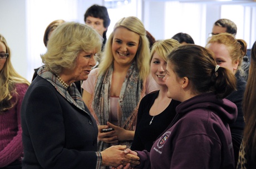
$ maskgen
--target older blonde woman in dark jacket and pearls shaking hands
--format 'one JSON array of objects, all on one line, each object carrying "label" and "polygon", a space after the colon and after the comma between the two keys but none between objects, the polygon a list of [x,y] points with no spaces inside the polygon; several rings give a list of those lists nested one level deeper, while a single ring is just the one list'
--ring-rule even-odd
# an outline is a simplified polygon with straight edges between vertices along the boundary
[{"label": "older blonde woman in dark jacket and pearls shaking hands", "polygon": [[[100,168],[125,162],[126,146],[97,151],[97,124],[75,81],[86,80],[102,38],[88,25],[66,22],[52,33],[45,67],[22,104],[23,168]],[[130,160],[129,160],[130,161]]]}]

